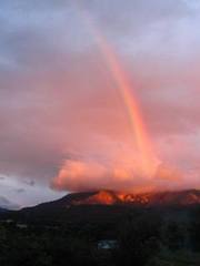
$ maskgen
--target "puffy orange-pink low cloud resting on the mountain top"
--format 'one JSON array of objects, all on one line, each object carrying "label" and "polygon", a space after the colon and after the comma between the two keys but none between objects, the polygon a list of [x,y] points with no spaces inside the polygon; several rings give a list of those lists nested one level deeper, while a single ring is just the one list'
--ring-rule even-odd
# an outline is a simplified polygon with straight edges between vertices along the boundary
[{"label": "puffy orange-pink low cloud resting on the mountain top", "polygon": [[[180,185],[181,184],[181,185]],[[124,156],[114,162],[68,160],[52,181],[58,191],[116,190],[127,192],[176,190],[187,186],[180,170],[157,164],[151,174],[142,174],[140,162]]]}]

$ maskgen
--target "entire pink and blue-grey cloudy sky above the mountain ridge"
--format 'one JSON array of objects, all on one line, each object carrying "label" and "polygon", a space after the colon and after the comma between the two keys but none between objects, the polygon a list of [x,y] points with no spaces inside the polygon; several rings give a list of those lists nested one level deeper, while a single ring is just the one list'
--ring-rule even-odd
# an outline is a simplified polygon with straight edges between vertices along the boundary
[{"label": "entire pink and blue-grey cloudy sky above the mountain ridge", "polygon": [[200,187],[198,0],[1,0],[0,22],[0,205]]}]

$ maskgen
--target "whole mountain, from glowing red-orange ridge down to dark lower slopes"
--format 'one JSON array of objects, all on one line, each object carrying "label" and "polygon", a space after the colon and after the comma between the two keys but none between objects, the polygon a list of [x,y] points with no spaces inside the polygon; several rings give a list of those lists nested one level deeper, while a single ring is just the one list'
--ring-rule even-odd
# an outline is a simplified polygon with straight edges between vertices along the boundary
[{"label": "whole mountain, from glowing red-orange ridge down to dark lower slopes", "polygon": [[167,218],[186,219],[188,212],[200,205],[200,191],[158,193],[120,193],[113,191],[72,193],[33,207],[0,215],[21,223],[38,225],[116,224],[141,213],[157,213]]}]

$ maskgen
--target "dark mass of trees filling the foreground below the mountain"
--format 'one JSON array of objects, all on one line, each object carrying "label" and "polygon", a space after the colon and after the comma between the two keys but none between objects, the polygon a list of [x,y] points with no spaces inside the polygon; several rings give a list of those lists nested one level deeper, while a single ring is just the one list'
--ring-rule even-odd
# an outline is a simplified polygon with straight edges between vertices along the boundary
[{"label": "dark mass of trees filling the foreground below the mountain", "polygon": [[[192,216],[193,215],[193,216]],[[163,219],[159,211],[130,211],[111,223],[0,224],[0,266],[199,266],[200,212],[188,223]],[[171,222],[170,222],[171,221]],[[114,249],[98,242],[116,239]]]}]

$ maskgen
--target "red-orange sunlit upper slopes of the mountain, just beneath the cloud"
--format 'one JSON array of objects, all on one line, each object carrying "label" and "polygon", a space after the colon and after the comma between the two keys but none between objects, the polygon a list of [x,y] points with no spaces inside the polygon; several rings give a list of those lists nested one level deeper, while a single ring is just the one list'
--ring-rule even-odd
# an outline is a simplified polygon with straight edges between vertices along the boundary
[{"label": "red-orange sunlit upper slopes of the mountain, just beneath the cloud", "polygon": [[200,191],[189,190],[140,194],[98,191],[69,194],[58,201],[43,203],[36,207],[69,208],[79,205],[188,206],[193,204],[200,204]]}]

